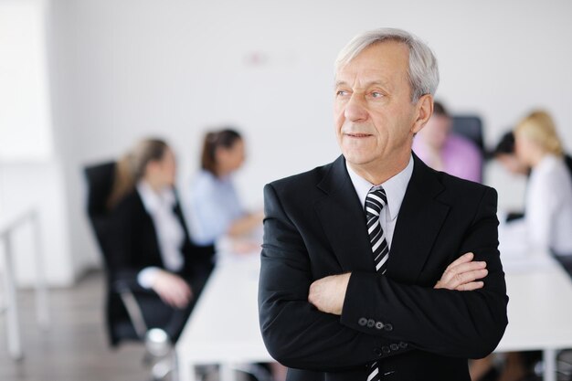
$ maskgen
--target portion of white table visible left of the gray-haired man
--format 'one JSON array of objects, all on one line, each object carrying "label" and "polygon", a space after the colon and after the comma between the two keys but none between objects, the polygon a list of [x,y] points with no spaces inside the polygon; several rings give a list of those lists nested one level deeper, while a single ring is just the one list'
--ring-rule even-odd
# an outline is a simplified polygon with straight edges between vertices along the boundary
[{"label": "portion of white table visible left of the gray-haired man", "polygon": [[180,381],[195,381],[195,365],[221,365],[221,381],[234,365],[273,361],[259,328],[258,255],[219,260],[175,351]]}]

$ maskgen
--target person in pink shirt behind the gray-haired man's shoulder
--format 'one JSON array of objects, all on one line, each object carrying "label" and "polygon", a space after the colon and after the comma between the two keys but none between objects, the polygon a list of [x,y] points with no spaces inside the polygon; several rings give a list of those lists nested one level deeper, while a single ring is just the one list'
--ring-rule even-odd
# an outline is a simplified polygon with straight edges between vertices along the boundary
[{"label": "person in pink shirt behind the gray-haired man's shoulder", "polygon": [[433,115],[413,140],[413,151],[437,171],[482,181],[482,154],[468,139],[451,132],[452,119],[445,107],[435,101]]}]

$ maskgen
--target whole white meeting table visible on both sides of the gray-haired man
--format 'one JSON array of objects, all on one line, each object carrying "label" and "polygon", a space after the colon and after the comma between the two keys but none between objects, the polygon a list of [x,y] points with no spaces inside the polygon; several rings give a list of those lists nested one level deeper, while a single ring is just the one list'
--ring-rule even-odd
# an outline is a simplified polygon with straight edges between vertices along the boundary
[{"label": "whole white meeting table visible on both sides of the gray-haired man", "polygon": [[[556,351],[572,348],[572,281],[553,259],[505,262],[509,325],[496,352],[543,350],[546,381],[556,380]],[[257,315],[258,259],[226,260],[214,270],[176,345],[180,381],[194,365],[271,361]]]}]

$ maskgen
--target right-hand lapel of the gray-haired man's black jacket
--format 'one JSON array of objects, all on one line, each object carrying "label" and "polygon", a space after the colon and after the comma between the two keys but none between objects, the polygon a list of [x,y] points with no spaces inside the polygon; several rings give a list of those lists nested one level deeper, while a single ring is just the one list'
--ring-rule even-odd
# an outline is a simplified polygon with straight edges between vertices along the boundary
[{"label": "right-hand lapel of the gray-haired man's black jacket", "polygon": [[387,275],[415,282],[433,247],[449,206],[436,199],[444,187],[414,154],[414,167],[393,234]]}]

